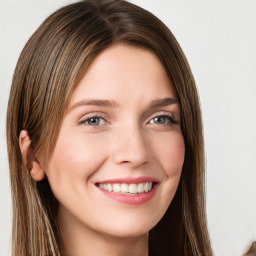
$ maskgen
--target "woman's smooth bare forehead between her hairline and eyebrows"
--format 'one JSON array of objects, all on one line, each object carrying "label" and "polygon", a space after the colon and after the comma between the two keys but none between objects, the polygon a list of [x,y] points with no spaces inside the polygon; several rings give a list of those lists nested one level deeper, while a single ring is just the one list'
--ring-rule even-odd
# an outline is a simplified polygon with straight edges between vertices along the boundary
[{"label": "woman's smooth bare forehead between her hairline and eyebrows", "polygon": [[95,58],[77,85],[71,103],[84,97],[141,100],[166,96],[175,97],[175,92],[158,57],[145,48],[118,44]]}]

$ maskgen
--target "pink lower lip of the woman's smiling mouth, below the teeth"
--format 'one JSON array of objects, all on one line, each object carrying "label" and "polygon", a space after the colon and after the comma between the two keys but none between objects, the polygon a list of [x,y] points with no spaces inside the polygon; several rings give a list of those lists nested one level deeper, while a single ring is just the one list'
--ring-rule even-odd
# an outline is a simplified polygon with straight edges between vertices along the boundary
[{"label": "pink lower lip of the woman's smiling mouth, below the teeth", "polygon": [[110,197],[111,199],[119,201],[121,203],[131,204],[131,205],[140,205],[140,204],[146,203],[154,196],[156,189],[157,189],[157,184],[155,184],[149,192],[144,192],[144,193],[135,194],[135,195],[126,195],[126,194],[108,192],[107,190],[103,190],[99,188],[99,190],[104,195]]}]

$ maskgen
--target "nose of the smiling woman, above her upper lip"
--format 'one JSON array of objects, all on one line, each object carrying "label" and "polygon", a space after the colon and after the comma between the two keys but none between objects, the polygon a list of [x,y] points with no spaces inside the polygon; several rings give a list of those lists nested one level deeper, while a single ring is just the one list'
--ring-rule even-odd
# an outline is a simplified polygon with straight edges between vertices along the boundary
[{"label": "nose of the smiling woman, above her upper lip", "polygon": [[126,164],[132,168],[149,160],[150,147],[142,128],[120,129],[113,141],[112,158],[116,164]]}]

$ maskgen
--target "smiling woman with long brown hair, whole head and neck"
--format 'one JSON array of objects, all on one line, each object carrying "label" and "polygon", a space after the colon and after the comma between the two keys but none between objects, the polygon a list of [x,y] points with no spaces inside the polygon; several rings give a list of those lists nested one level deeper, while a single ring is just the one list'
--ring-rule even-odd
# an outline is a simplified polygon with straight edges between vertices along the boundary
[{"label": "smiling woman with long brown hair, whole head and neck", "polygon": [[149,12],[53,13],[21,53],[7,127],[12,255],[212,255],[195,83]]}]

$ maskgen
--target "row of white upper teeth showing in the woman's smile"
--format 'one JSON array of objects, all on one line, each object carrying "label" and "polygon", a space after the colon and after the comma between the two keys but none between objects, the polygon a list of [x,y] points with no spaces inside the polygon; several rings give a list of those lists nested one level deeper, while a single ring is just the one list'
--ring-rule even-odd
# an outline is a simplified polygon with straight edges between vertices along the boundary
[{"label": "row of white upper teeth showing in the woman's smile", "polygon": [[99,188],[108,192],[122,193],[122,194],[141,194],[147,193],[152,189],[153,182],[144,182],[139,184],[127,184],[127,183],[114,183],[114,184],[99,184]]}]

